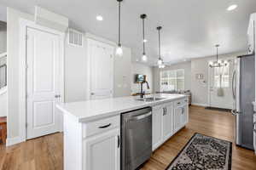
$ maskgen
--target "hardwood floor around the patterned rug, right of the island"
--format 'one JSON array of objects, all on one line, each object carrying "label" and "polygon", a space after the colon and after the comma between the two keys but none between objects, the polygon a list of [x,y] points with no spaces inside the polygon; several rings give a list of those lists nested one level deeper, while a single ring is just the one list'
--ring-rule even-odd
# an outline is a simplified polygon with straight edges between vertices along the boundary
[{"label": "hardwood floor around the patterned rug, right of the island", "polygon": [[155,150],[142,170],[165,169],[177,156],[194,133],[206,134],[233,142],[232,170],[256,170],[256,156],[234,144],[235,116],[229,112],[210,111],[202,107],[189,107],[189,123],[165,144]]}]

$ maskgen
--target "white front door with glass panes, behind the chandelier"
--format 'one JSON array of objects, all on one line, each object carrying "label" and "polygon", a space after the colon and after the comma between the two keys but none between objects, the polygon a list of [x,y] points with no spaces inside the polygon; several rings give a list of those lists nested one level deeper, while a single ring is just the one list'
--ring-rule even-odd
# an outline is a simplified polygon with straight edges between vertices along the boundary
[{"label": "white front door with glass panes, behind the chandelier", "polygon": [[232,109],[234,102],[232,96],[232,74],[234,68],[233,59],[230,59],[227,66],[209,67],[209,106]]}]

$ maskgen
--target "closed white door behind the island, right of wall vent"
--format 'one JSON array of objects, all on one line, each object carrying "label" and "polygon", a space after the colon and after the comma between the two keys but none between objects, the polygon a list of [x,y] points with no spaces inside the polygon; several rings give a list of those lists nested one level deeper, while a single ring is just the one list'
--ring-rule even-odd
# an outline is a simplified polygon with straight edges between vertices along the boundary
[{"label": "closed white door behind the island, right of wall vent", "polygon": [[113,47],[90,41],[90,99],[113,97]]}]

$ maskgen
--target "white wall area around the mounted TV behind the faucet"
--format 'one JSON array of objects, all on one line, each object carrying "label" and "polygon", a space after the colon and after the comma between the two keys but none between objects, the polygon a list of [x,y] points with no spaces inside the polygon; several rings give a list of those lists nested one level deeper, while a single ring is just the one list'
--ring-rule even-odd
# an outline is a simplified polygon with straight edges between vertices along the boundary
[{"label": "white wall area around the mounted TV behind the faucet", "polygon": [[135,83],[136,74],[146,75],[150,89],[148,89],[147,85],[144,84],[143,90],[148,93],[154,92],[153,67],[133,62],[131,64],[131,94],[140,93],[141,90],[140,84]]}]

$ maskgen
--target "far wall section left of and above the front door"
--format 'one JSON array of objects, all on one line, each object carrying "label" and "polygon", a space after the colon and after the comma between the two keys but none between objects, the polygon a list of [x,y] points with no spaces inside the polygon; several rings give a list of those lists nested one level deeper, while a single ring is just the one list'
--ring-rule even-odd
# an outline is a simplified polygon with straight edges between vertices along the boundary
[{"label": "far wall section left of and above the front door", "polygon": [[[244,52],[235,54],[220,55],[219,59],[236,58],[236,56],[246,54]],[[191,92],[192,104],[208,105],[208,62],[216,60],[215,56],[191,60]],[[196,74],[203,74],[204,80],[197,80]],[[205,81],[205,82],[204,82]]]}]

